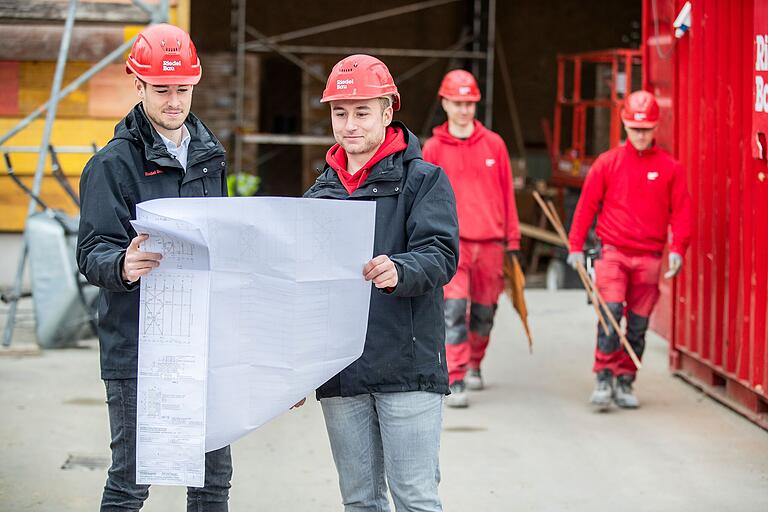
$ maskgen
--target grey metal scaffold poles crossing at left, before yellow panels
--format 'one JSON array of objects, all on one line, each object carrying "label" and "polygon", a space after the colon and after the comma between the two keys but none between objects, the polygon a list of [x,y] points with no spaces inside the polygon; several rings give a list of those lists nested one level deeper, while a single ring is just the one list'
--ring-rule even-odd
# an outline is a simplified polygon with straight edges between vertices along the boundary
[{"label": "grey metal scaffold poles crossing at left, before yellow panels", "polygon": [[[149,6],[142,0],[131,0],[134,5],[149,15],[148,25],[155,23],[163,23],[168,20],[168,6],[169,0],[160,0],[157,6]],[[107,67],[109,64],[122,58],[123,54],[128,51],[133,45],[135,37],[126,41],[115,50],[110,52],[107,56],[94,64],[88,71],[80,75],[77,79],[73,80],[69,85],[61,88],[61,83],[64,78],[64,70],[67,65],[67,54],[69,53],[69,45],[72,39],[72,31],[75,24],[75,13],[77,11],[78,0],[69,0],[67,8],[67,17],[64,24],[64,34],[61,39],[61,45],[59,47],[59,55],[56,61],[56,70],[54,72],[53,84],[51,85],[51,96],[44,104],[33,110],[27,117],[19,121],[13,128],[7,133],[0,136],[0,146],[8,141],[11,137],[22,131],[24,128],[32,124],[37,118],[39,118],[43,112],[46,112],[45,127],[43,129],[43,137],[38,148],[29,147],[3,147],[5,152],[29,152],[32,150],[38,153],[37,166],[35,167],[34,181],[32,185],[32,192],[34,196],[39,196],[40,189],[42,187],[43,175],[45,173],[45,159],[48,153],[48,146],[50,144],[51,132],[53,129],[53,123],[56,120],[56,110],[59,102],[69,96],[72,92],[76,91],[81,85],[93,78],[98,72]],[[86,152],[86,148],[71,148],[69,152],[79,153]],[[90,148],[87,148],[87,152]],[[38,204],[35,199],[30,198],[29,206],[27,208],[27,218],[35,213],[38,208]],[[21,286],[24,278],[24,269],[26,268],[27,255],[28,255],[28,239],[26,229],[24,232],[24,240],[22,243],[21,252],[19,254],[19,264],[16,270],[16,277],[14,280],[13,291],[10,295],[10,307],[8,309],[8,318],[5,323],[5,330],[3,332],[3,347],[9,347],[13,338],[13,331],[16,325],[16,309],[18,306],[18,300],[21,296]]]}]

